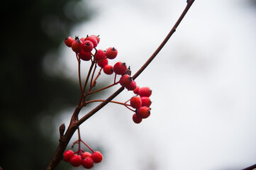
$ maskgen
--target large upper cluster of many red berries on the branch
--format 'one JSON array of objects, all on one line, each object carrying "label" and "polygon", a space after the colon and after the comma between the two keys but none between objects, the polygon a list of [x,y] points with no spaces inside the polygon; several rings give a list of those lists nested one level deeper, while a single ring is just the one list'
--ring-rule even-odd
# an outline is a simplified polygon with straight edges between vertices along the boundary
[{"label": "large upper cluster of many red berries on the branch", "polygon": [[[113,60],[118,55],[118,50],[115,47],[108,47],[106,50],[97,50],[99,44],[99,36],[87,35],[87,38],[72,37],[65,38],[67,47],[71,47],[77,55],[77,60],[89,61],[93,64],[98,64],[105,74],[115,74],[114,83],[112,85],[121,84],[128,91],[133,91],[136,96],[130,98],[130,105],[123,103],[128,108],[135,108],[133,115],[134,123],[140,123],[143,119],[150,116],[150,95],[152,91],[148,87],[140,88],[130,76],[130,67],[126,66],[125,62],[116,62],[116,64],[108,64],[108,60]],[[100,72],[101,72],[100,70]],[[121,76],[116,82],[116,76]],[[129,108],[130,109],[130,108]],[[132,109],[130,109],[132,110]],[[132,110],[133,111],[133,110]]]}]

